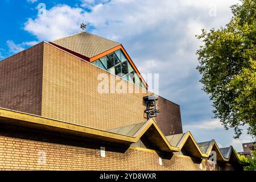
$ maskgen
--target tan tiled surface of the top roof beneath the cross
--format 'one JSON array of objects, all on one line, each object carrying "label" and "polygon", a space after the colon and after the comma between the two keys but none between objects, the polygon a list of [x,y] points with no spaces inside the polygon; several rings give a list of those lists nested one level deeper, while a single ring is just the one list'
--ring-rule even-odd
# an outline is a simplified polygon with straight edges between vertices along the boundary
[{"label": "tan tiled surface of the top roof beneath the cross", "polygon": [[88,58],[121,45],[121,43],[101,38],[100,36],[88,32],[79,32],[78,34],[53,40],[50,43],[64,47]]}]

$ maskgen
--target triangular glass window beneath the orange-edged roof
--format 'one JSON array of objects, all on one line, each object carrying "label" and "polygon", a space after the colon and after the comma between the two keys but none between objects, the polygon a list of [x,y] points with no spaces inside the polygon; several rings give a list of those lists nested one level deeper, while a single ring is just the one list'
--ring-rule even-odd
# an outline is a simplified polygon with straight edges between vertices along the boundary
[{"label": "triangular glass window beneath the orange-edged roof", "polygon": [[92,64],[146,89],[121,49],[93,61]]}]

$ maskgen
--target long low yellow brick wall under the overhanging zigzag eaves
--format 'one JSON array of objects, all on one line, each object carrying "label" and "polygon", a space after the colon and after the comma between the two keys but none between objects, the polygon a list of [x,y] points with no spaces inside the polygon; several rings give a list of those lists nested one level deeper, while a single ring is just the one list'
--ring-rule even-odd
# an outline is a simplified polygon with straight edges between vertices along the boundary
[{"label": "long low yellow brick wall under the overhanging zigzag eaves", "polygon": [[[101,158],[100,146],[67,135],[1,125],[0,170],[200,170],[200,159],[168,154],[160,166],[156,152],[133,147],[120,150],[105,145],[106,158]],[[46,164],[38,163],[42,151]]]}]

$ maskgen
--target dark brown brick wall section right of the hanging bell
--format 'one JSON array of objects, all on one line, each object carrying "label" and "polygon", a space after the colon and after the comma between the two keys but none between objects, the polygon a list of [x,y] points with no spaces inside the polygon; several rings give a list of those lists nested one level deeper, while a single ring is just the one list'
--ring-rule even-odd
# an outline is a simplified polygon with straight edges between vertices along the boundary
[{"label": "dark brown brick wall section right of the hanging bell", "polygon": [[158,109],[160,113],[156,117],[156,121],[164,135],[168,136],[183,133],[179,105],[163,97],[159,97]]}]

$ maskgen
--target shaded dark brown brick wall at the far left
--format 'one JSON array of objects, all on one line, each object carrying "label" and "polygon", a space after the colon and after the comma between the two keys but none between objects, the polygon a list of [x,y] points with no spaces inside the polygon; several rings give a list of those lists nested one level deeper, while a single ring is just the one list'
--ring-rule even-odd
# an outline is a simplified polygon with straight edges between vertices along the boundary
[{"label": "shaded dark brown brick wall at the far left", "polygon": [[0,107],[41,114],[43,43],[0,61]]}]

